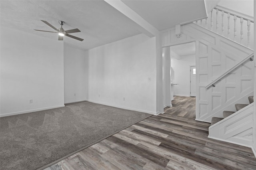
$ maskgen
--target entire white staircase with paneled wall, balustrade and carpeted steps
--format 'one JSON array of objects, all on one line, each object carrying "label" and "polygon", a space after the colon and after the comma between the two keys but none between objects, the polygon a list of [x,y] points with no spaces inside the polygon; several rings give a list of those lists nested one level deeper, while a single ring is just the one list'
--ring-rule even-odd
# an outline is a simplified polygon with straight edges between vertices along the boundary
[{"label": "entire white staircase with paneled wall, balustrade and carpeted steps", "polygon": [[254,113],[253,27],[250,16],[216,6],[206,19],[162,31],[163,47],[196,42],[196,120],[211,123],[208,137],[248,147]]}]

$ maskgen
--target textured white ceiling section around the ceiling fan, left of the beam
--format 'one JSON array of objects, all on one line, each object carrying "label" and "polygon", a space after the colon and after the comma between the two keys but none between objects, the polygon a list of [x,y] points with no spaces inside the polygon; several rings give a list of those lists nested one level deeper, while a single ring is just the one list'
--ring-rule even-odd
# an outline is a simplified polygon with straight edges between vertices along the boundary
[{"label": "textured white ceiling section around the ceiling fan, left of the beam", "polygon": [[34,29],[54,31],[40,20],[56,28],[60,28],[58,21],[63,20],[64,30],[78,28],[81,32],[71,35],[84,39],[80,42],[64,37],[64,42],[84,50],[140,34],[130,19],[101,0],[1,0],[0,3],[1,26],[58,40],[58,34]]}]

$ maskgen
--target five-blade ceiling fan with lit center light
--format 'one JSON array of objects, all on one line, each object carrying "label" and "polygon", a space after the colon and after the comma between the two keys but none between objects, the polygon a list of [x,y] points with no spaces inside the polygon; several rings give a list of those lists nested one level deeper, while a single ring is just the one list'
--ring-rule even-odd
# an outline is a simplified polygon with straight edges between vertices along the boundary
[{"label": "five-blade ceiling fan with lit center light", "polygon": [[36,30],[36,31],[58,33],[58,34],[59,34],[58,40],[63,40],[63,37],[64,37],[64,36],[67,36],[67,37],[70,37],[70,38],[74,38],[74,39],[79,40],[79,41],[81,41],[81,42],[84,40],[84,39],[82,39],[82,38],[78,38],[78,37],[69,35],[70,33],[81,32],[81,31],[78,30],[78,28],[72,29],[72,30],[66,30],[66,31],[65,31],[65,30],[62,28],[63,24],[65,23],[64,21],[59,21],[59,23],[60,23],[60,25],[61,25],[60,29],[55,28],[54,26],[52,26],[52,25],[51,25],[49,22],[47,22],[47,21],[44,21],[44,20],[41,20],[41,21],[44,22],[45,24],[47,24],[48,26],[50,26],[51,28],[53,28],[54,30],[56,30],[56,32],[53,32],[53,31],[44,31],[44,30]]}]

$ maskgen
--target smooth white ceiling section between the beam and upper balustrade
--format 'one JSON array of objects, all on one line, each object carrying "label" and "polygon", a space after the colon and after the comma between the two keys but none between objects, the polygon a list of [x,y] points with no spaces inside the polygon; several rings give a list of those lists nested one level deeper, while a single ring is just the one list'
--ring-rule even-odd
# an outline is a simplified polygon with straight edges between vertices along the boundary
[{"label": "smooth white ceiling section between the beam and upper balustrade", "polygon": [[158,30],[206,17],[204,0],[122,0]]}]

